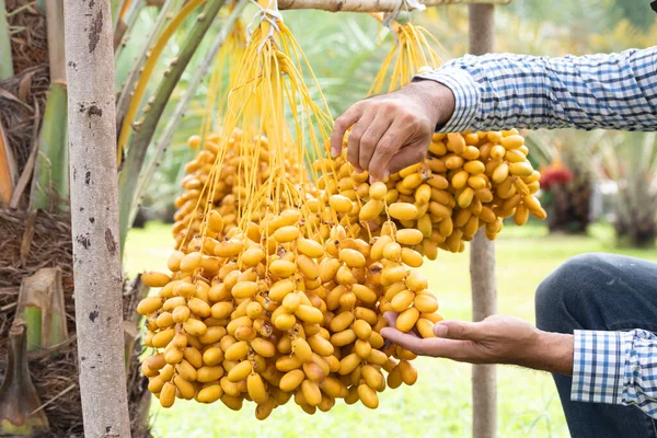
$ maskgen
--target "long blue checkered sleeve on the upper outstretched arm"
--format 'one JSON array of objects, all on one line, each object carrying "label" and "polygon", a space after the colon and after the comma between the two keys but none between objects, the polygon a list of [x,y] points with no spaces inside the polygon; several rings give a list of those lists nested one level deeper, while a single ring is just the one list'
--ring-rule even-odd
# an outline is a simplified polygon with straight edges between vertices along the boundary
[{"label": "long blue checkered sleeve on the upper outstretched arm", "polygon": [[415,78],[422,79],[443,83],[456,96],[440,132],[657,130],[657,47],[563,58],[466,55]]}]

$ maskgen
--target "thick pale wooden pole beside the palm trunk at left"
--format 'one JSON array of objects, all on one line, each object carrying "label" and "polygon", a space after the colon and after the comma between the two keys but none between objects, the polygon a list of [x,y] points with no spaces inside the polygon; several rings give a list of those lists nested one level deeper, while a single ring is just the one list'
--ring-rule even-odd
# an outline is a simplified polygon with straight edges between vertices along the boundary
[{"label": "thick pale wooden pole beside the palm trunk at left", "polygon": [[65,41],[84,436],[129,437],[110,0],[66,0]]}]

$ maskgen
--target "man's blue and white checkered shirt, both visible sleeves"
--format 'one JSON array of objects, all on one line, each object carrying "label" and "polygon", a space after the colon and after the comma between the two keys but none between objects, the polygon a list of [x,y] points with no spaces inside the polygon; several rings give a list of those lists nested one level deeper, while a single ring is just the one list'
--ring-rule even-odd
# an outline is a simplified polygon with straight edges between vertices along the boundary
[{"label": "man's blue and white checkered shirt, both visible sleeves", "polygon": [[[441,132],[505,128],[657,130],[657,47],[546,58],[465,56],[420,74],[454,93]],[[636,405],[657,417],[657,336],[575,331],[570,399]]]}]

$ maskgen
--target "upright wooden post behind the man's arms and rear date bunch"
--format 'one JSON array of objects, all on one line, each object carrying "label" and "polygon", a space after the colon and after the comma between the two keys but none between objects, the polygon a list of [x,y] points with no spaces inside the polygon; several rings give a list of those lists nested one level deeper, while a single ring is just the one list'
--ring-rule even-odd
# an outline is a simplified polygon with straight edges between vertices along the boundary
[{"label": "upright wooden post behind the man's arms and rear date bunch", "polygon": [[[493,4],[470,4],[470,53],[493,51]],[[481,229],[470,244],[470,278],[472,284],[472,320],[482,321],[497,312],[495,280],[495,243]],[[494,365],[472,367],[472,436],[494,438],[497,429],[497,387]]]}]

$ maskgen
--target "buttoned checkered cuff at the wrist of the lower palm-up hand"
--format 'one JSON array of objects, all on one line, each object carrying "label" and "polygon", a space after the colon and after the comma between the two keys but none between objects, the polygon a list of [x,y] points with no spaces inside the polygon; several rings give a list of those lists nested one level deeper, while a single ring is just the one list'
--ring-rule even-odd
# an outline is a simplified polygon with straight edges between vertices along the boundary
[{"label": "buttoned checkered cuff at the wrist of the lower palm-up hand", "polygon": [[632,342],[631,333],[575,331],[572,401],[607,404],[622,402],[627,341]]}]

